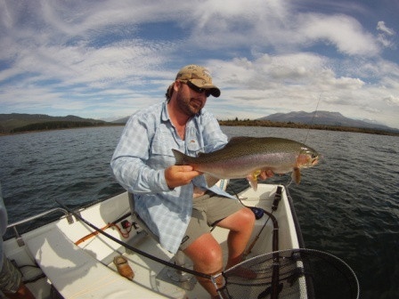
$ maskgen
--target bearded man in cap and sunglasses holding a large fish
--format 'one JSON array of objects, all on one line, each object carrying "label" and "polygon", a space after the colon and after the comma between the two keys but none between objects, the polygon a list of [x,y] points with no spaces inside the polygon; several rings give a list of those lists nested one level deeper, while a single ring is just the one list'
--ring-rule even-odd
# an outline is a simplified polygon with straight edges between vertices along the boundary
[{"label": "bearded man in cap and sunglasses holding a large fish", "polygon": [[[255,217],[228,193],[208,188],[191,166],[175,166],[172,149],[197,156],[227,143],[216,118],[203,109],[209,95],[220,95],[208,70],[197,65],[180,69],[166,95],[166,102],[129,118],[110,164],[118,182],[134,193],[135,212],[161,246],[172,253],[183,250],[195,271],[213,275],[222,271],[223,255],[209,228],[216,224],[230,230],[230,268],[241,261]],[[217,295],[209,279],[198,280]]]}]

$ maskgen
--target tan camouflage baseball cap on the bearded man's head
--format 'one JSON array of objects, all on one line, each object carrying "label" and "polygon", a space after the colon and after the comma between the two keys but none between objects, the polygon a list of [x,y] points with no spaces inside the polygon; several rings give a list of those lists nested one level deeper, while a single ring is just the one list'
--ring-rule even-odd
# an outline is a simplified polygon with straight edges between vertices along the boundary
[{"label": "tan camouflage baseball cap on the bearded man's head", "polygon": [[199,88],[208,89],[210,94],[216,98],[220,95],[220,89],[216,85],[212,84],[212,77],[210,76],[208,69],[198,65],[190,64],[183,67],[183,69],[180,69],[177,73],[176,80],[184,83],[190,81],[193,85],[196,85]]}]

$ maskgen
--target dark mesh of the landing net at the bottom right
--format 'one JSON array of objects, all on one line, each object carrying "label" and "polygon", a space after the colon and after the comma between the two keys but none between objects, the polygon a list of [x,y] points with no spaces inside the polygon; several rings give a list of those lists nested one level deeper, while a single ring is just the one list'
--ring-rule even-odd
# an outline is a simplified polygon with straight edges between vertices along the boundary
[{"label": "dark mesh of the landing net at the bottom right", "polygon": [[281,250],[244,261],[221,275],[221,298],[359,297],[354,271],[334,255],[312,249]]}]

